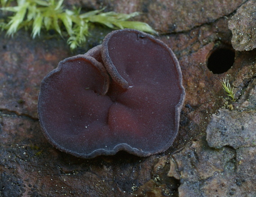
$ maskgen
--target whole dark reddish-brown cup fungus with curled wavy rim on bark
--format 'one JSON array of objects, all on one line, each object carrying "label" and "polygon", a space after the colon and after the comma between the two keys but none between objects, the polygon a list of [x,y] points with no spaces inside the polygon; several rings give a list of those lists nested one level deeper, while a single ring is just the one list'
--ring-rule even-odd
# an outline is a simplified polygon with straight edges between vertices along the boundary
[{"label": "whole dark reddish-brown cup fungus with curled wavy rim on bark", "polygon": [[172,50],[149,34],[124,29],[45,76],[38,115],[45,137],[66,153],[149,156],[172,145],[184,97]]}]

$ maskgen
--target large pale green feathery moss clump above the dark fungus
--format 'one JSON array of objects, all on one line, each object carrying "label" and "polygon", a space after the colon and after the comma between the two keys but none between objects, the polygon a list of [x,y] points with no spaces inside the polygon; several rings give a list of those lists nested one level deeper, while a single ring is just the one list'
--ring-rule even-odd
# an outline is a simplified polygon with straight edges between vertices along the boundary
[{"label": "large pale green feathery moss clump above the dark fungus", "polygon": [[[111,29],[131,28],[156,34],[148,24],[140,21],[128,21],[139,15],[106,12],[104,9],[80,13],[81,9],[64,9],[63,0],[16,0],[17,6],[8,6],[11,0],[0,0],[1,10],[12,12],[13,15],[0,23],[7,35],[15,34],[19,29],[32,30],[31,36],[40,35],[41,30],[55,30],[58,34],[67,35],[67,43],[71,50],[86,42],[92,24],[101,24]],[[62,27],[65,27],[64,30]]]}]

